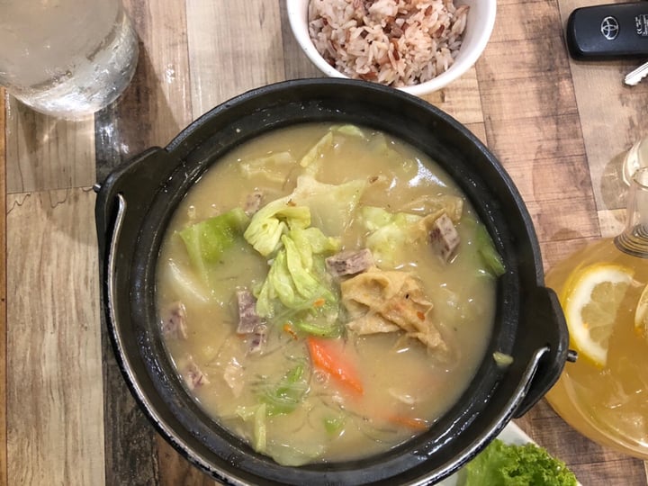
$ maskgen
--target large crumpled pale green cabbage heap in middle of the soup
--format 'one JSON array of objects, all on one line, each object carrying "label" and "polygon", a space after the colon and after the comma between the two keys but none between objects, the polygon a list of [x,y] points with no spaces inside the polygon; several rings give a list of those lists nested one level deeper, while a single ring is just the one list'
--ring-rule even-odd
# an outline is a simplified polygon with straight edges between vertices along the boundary
[{"label": "large crumpled pale green cabbage heap in middle of the soup", "polygon": [[339,237],[351,224],[366,184],[362,179],[323,184],[301,175],[292,194],[252,217],[244,237],[271,258],[266,280],[255,289],[259,316],[281,314],[296,328],[321,336],[339,333],[330,325],[338,316],[339,297],[324,258],[340,250]]}]

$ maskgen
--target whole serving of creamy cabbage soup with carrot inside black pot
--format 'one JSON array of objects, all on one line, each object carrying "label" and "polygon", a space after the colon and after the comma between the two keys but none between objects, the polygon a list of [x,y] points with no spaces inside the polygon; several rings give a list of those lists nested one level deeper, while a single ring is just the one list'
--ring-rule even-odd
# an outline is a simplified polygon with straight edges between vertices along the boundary
[{"label": "whole serving of creamy cabbage soup with carrot inside black pot", "polygon": [[274,130],[175,211],[157,312],[185,388],[279,464],[360,459],[426,431],[470,383],[504,272],[437,164],[354,125]]}]

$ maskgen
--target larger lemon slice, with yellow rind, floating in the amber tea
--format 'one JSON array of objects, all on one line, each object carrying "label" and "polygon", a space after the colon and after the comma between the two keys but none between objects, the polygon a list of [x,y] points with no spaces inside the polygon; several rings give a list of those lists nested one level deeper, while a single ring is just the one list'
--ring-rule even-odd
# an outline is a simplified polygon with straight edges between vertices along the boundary
[{"label": "larger lemon slice, with yellow rind, floating in the amber tea", "polygon": [[594,365],[605,366],[617,311],[633,281],[626,266],[594,264],[575,270],[567,280],[563,308],[572,344]]}]

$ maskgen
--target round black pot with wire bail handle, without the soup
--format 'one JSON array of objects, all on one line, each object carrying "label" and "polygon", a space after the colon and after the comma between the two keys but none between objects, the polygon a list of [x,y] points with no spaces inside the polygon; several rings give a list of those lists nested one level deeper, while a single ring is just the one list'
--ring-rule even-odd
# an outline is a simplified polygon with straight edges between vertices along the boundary
[{"label": "round black pot with wire bail handle, without the soup", "polygon": [[[157,326],[155,269],[178,202],[220,156],[268,130],[307,121],[383,130],[427,153],[471,199],[504,258],[496,323],[463,397],[425,434],[382,455],[347,463],[284,467],[220,428],[184,392]],[[223,103],[166,148],[150,148],[98,190],[103,311],[130,391],[159,433],[189,461],[231,484],[428,484],[454,473],[556,381],[568,335],[544,286],[533,224],[506,171],[473,134],[408,94],[342,79],[268,85]],[[513,356],[498,367],[494,351]]]}]

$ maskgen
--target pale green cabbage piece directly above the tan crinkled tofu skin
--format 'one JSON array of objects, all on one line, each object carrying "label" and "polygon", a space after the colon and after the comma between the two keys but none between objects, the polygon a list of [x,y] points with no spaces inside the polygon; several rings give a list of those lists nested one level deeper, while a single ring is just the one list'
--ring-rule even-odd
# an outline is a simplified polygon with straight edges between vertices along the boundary
[{"label": "pale green cabbage piece directly above the tan crinkled tofu skin", "polygon": [[373,231],[366,238],[366,247],[372,251],[378,266],[389,268],[398,265],[400,253],[410,242],[411,230],[423,219],[417,214],[391,213],[373,206],[363,207],[360,218],[365,228]]}]

